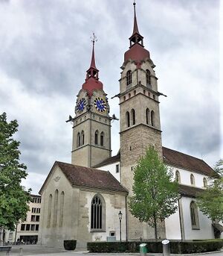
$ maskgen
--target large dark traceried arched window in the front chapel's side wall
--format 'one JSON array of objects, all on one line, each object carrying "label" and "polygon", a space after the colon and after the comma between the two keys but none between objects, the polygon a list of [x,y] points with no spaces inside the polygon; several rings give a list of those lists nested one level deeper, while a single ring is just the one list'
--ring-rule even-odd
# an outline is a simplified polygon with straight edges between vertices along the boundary
[{"label": "large dark traceried arched window in the front chapel's side wall", "polygon": [[94,196],[91,201],[91,230],[105,230],[105,201],[100,195]]}]

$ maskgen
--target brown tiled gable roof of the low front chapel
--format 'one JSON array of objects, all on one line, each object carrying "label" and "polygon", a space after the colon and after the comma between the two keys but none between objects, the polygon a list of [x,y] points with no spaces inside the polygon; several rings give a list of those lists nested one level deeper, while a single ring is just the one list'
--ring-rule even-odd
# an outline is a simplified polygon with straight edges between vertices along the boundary
[{"label": "brown tiled gable roof of the low front chapel", "polygon": [[[109,191],[119,191],[128,193],[119,181],[111,175],[110,172],[101,171],[99,169],[92,169],[84,166],[76,166],[71,163],[62,163],[56,161],[54,166],[59,166],[59,168],[64,173],[65,177],[70,182],[71,186],[77,187],[88,187],[88,188],[96,188],[96,189],[103,189]],[[51,169],[54,169],[54,166]],[[43,188],[51,174],[49,173],[48,177],[46,178],[42,188],[39,190],[39,193],[42,193]]]}]

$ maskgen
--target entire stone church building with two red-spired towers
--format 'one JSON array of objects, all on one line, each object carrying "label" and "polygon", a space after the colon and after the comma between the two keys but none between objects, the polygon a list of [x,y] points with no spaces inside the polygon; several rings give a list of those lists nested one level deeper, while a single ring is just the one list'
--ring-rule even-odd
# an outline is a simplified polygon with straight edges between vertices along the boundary
[{"label": "entire stone church building with two red-spired towers", "polygon": [[[117,63],[118,65],[118,63]],[[196,195],[207,187],[214,171],[196,157],[162,146],[158,78],[143,46],[134,3],[134,25],[121,66],[120,151],[111,157],[109,102],[95,64],[94,38],[90,67],[77,95],[71,163],[56,161],[39,193],[42,212],[39,244],[62,246],[63,240],[154,239],[154,229],[128,209],[133,170],[148,146],[153,146],[179,183],[178,210],[158,224],[161,239],[214,238],[220,232],[198,209]]]}]

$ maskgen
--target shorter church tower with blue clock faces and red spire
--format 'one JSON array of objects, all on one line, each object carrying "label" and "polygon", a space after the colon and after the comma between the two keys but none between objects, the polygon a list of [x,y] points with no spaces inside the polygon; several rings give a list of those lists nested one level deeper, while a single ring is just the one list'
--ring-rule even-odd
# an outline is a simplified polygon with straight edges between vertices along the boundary
[{"label": "shorter church tower with blue clock faces and red spire", "polygon": [[109,103],[99,81],[94,58],[86,72],[85,83],[77,95],[73,119],[73,146],[71,163],[91,167],[111,157],[111,119]]}]

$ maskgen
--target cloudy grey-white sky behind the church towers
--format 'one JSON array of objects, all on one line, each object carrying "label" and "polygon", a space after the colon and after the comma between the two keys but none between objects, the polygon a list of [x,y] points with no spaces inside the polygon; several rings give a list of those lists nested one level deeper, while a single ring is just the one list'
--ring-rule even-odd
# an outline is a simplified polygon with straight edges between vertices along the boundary
[{"label": "cloudy grey-white sky behind the church towers", "polygon": [[[138,28],[155,63],[163,146],[206,161],[222,157],[220,1],[138,0]],[[77,94],[95,57],[119,116],[120,66],[133,28],[131,0],[0,0],[0,113],[17,119],[23,181],[38,193],[55,160],[71,163]],[[112,155],[119,122],[112,122]]]}]

